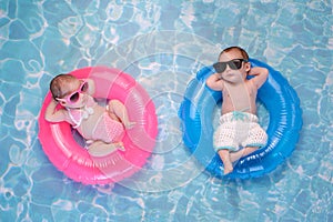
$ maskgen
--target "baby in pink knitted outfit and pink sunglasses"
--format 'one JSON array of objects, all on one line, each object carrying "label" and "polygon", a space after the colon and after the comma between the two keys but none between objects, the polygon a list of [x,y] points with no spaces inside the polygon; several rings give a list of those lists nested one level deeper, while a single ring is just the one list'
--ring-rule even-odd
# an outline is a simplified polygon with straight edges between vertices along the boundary
[{"label": "baby in pink knitted outfit and pink sunglasses", "polygon": [[[50,91],[53,100],[46,111],[47,121],[70,123],[87,140],[91,155],[101,157],[118,149],[124,150],[121,142],[124,128],[129,129],[134,123],[130,122],[128,111],[120,101],[111,100],[105,108],[94,101],[93,80],[59,74],[51,81]],[[63,109],[56,109],[58,103]]]}]

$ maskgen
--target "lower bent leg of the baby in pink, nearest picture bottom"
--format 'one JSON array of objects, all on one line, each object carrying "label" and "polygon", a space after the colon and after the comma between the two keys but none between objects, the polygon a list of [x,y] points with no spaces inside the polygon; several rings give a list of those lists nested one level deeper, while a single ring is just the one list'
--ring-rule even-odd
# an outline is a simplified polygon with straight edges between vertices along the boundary
[{"label": "lower bent leg of the baby in pink, nearest picture bottom", "polygon": [[105,143],[103,141],[94,141],[88,147],[88,152],[93,157],[104,157],[115,152],[117,150],[124,151],[124,147],[122,142],[117,143]]}]

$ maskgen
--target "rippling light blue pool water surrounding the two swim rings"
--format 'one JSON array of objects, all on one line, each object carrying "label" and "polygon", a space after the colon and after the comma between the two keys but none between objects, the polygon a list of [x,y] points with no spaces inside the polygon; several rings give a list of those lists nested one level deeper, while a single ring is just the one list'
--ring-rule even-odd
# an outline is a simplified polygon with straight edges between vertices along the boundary
[{"label": "rippling light blue pool water surrounding the two swim rings", "polygon": [[[332,29],[319,0],[2,0],[0,221],[332,221]],[[259,179],[215,179],[181,140],[188,82],[229,46],[281,71],[301,100],[295,151]],[[138,174],[83,185],[43,153],[38,117],[54,75],[98,64],[147,89],[159,135]]]}]

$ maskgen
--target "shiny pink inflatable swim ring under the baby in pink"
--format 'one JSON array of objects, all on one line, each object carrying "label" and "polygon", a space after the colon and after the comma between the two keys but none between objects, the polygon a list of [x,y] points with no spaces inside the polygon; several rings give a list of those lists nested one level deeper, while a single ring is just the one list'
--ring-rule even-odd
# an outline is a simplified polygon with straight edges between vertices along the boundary
[{"label": "shiny pink inflatable swim ring under the baby in pink", "polygon": [[67,176],[84,184],[114,183],[138,172],[150,157],[158,134],[155,108],[147,91],[135,80],[118,69],[83,68],[70,74],[95,82],[94,98],[120,100],[135,122],[127,130],[122,142],[125,151],[105,157],[91,157],[72,134],[69,123],[50,123],[44,112],[52,95],[48,92],[39,115],[39,140],[49,160]]}]

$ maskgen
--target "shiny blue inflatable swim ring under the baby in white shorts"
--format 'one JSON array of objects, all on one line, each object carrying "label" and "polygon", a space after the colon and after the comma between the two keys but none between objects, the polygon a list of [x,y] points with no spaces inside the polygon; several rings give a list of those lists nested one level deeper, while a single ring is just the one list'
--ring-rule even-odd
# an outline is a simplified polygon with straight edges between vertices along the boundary
[{"label": "shiny blue inflatable swim ring under the baby in white shorts", "polygon": [[222,101],[222,93],[205,85],[205,80],[214,72],[205,67],[188,84],[179,110],[182,122],[183,141],[191,153],[216,178],[250,179],[266,174],[285,161],[293,152],[302,128],[300,99],[294,89],[279,71],[264,62],[250,59],[252,67],[264,67],[270,74],[258,92],[258,100],[270,114],[266,130],[268,145],[242,158],[232,173],[223,175],[223,163],[213,149],[213,110]]}]

